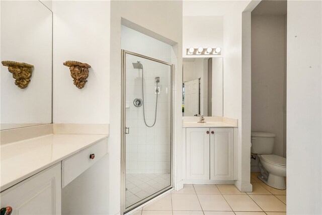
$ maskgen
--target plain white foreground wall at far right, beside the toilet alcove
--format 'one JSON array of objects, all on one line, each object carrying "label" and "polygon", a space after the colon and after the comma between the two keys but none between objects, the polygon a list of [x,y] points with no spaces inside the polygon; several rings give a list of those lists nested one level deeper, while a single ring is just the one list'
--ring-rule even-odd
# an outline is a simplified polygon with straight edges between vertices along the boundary
[{"label": "plain white foreground wall at far right, beside the toilet alcove", "polygon": [[322,213],[321,10],[287,3],[287,214]]}]

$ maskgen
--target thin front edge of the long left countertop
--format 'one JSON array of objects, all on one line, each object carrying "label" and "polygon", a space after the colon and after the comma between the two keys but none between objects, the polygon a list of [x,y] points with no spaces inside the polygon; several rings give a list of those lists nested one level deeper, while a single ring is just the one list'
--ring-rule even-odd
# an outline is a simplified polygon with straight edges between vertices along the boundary
[{"label": "thin front edge of the long left countertop", "polygon": [[[53,134],[53,135],[55,135],[55,134]],[[76,134],[76,135],[77,135],[77,134]],[[82,134],[79,134],[79,135],[82,135]],[[14,186],[14,185],[16,185],[16,184],[18,184],[18,183],[20,183],[20,182],[24,181],[24,180],[26,180],[26,179],[28,179],[28,178],[30,178],[30,177],[32,177],[32,176],[34,176],[34,175],[36,175],[37,173],[39,173],[39,172],[41,172],[41,171],[43,171],[43,170],[45,170],[45,169],[47,169],[47,168],[49,168],[49,167],[51,167],[51,166],[55,165],[55,164],[58,164],[59,162],[63,161],[64,159],[66,159],[66,158],[68,158],[68,157],[71,157],[71,156],[73,156],[73,155],[77,154],[78,152],[81,152],[81,151],[83,151],[83,150],[85,150],[85,149],[87,149],[87,148],[89,148],[89,147],[91,147],[91,146],[93,146],[93,145],[97,144],[97,142],[99,142],[99,141],[101,141],[101,140],[103,140],[103,139],[106,139],[106,138],[108,138],[108,137],[109,137],[109,135],[103,136],[103,137],[101,137],[101,138],[99,138],[99,139],[95,140],[94,142],[91,142],[89,145],[86,145],[86,146],[84,146],[84,147],[81,147],[81,148],[79,148],[79,149],[77,149],[77,150],[75,150],[75,151],[73,151],[73,152],[71,152],[71,153],[69,153],[69,154],[67,154],[67,155],[65,155],[65,156],[63,156],[63,157],[61,157],[61,158],[59,158],[59,159],[56,159],[56,160],[54,160],[54,161],[52,161],[52,162],[50,162],[50,163],[48,163],[48,164],[46,164],[46,165],[44,165],[44,166],[42,166],[42,167],[40,167],[40,168],[38,168],[38,169],[36,169],[36,170],[34,170],[34,171],[30,172],[30,173],[28,173],[28,174],[26,174],[26,175],[24,175],[24,176],[22,176],[22,177],[20,177],[20,178],[18,178],[18,179],[15,179],[15,180],[13,180],[13,181],[11,181],[11,182],[7,183],[7,184],[3,184],[3,185],[1,185],[1,187],[0,187],[0,192],[3,192],[3,191],[5,191],[5,190],[9,189],[10,187],[12,187],[12,186]]]}]

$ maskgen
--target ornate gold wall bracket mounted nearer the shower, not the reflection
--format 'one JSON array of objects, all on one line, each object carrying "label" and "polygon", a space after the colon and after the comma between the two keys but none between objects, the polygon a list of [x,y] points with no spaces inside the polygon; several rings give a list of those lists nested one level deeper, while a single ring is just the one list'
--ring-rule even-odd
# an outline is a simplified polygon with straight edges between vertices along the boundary
[{"label": "ornate gold wall bracket mounted nearer the shower, not the reflection", "polygon": [[77,88],[82,89],[87,82],[87,78],[89,77],[88,68],[91,68],[91,66],[87,63],[81,63],[72,60],[68,60],[63,64],[69,67],[70,76],[74,80],[74,85]]}]

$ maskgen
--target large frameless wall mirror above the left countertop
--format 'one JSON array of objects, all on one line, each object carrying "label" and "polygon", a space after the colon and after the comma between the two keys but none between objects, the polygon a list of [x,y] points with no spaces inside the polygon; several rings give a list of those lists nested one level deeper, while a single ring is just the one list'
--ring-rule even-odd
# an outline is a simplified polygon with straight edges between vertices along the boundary
[{"label": "large frameless wall mirror above the left countertop", "polygon": [[1,1],[1,61],[33,65],[29,83],[22,64],[0,65],[1,130],[51,123],[52,12],[40,1]]}]

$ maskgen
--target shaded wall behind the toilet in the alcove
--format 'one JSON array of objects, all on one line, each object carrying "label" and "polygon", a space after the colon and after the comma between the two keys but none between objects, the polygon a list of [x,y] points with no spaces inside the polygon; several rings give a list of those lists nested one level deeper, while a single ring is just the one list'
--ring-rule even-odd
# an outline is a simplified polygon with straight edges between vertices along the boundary
[{"label": "shaded wall behind the toilet in the alcove", "polygon": [[275,133],[278,156],[284,152],[285,27],[284,15],[252,16],[252,131]]}]

